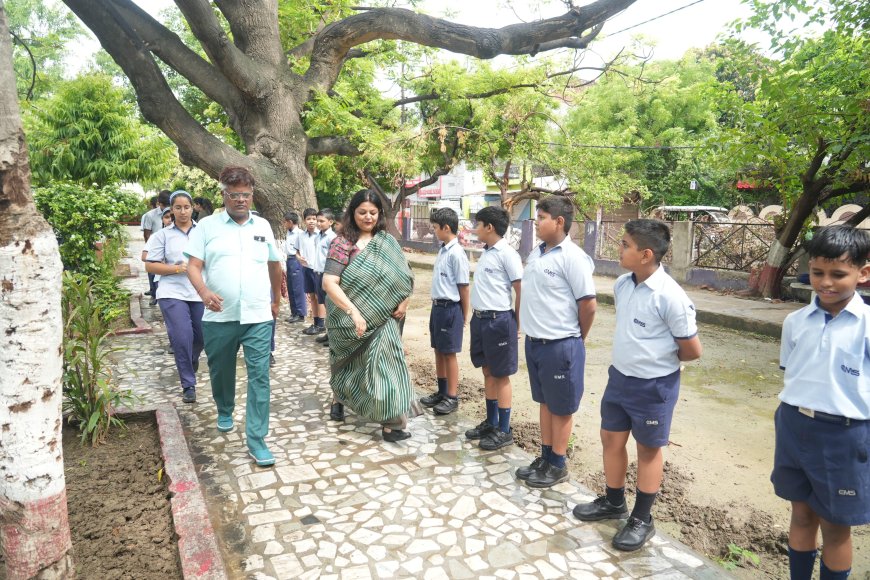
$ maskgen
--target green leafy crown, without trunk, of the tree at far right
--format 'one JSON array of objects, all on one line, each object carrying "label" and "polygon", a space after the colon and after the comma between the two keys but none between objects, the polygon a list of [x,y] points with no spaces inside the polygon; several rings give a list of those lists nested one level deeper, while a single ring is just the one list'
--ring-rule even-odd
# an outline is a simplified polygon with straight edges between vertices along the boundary
[{"label": "green leafy crown, without trunk, of the tree at far right", "polygon": [[[758,90],[751,102],[733,91],[721,94],[733,119],[718,144],[722,157],[770,183],[786,207],[806,193],[806,179],[824,185],[814,194],[815,203],[832,191],[860,190],[870,158],[870,41],[827,30],[815,38],[795,35],[775,42],[786,54],[781,61],[759,67],[751,53],[736,60]],[[808,173],[814,159],[818,167]]]}]

